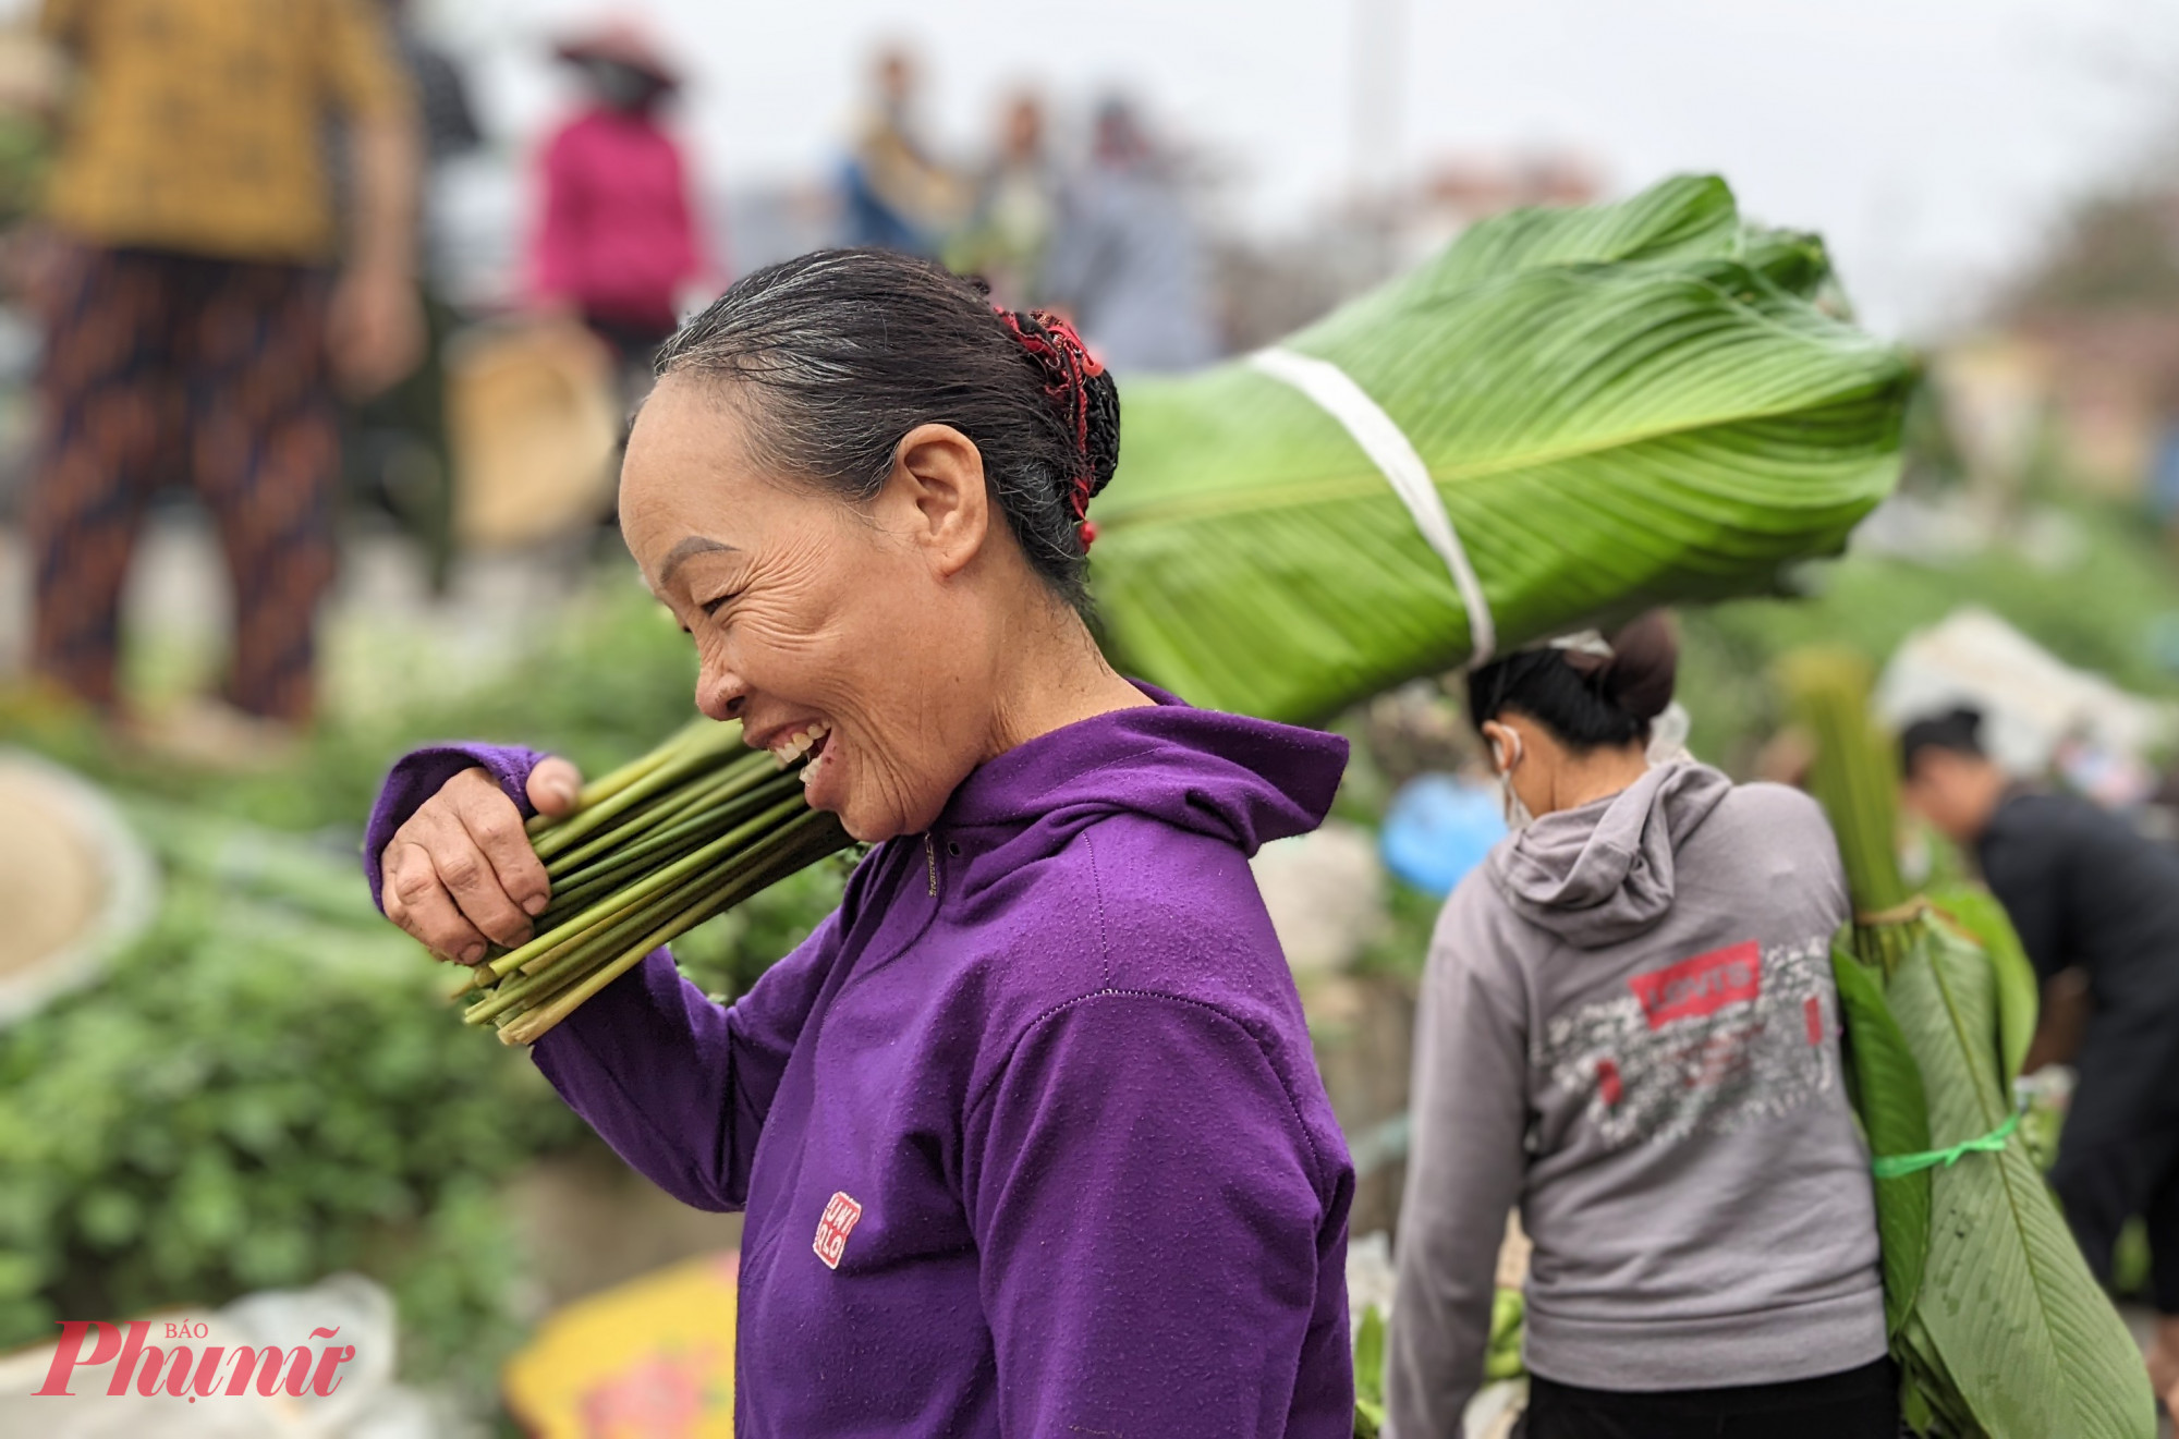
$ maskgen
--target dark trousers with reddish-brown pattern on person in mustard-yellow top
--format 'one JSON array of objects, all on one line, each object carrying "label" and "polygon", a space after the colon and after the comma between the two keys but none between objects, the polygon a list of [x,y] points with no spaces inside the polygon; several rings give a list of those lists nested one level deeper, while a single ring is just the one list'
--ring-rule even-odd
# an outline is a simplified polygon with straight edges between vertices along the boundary
[{"label": "dark trousers with reddish-brown pattern on person in mustard-yellow top", "polygon": [[325,273],[288,264],[96,246],[63,264],[46,303],[26,508],[39,674],[115,704],[129,554],[146,501],[185,484],[211,510],[233,580],[227,700],[309,717],[340,484],[327,299]]}]

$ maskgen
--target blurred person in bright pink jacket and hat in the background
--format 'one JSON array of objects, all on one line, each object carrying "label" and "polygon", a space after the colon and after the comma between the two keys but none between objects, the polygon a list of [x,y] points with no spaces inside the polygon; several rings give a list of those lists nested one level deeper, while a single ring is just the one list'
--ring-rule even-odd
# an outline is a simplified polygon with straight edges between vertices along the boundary
[{"label": "blurred person in bright pink jacket and hat in the background", "polygon": [[680,144],[658,122],[680,76],[625,22],[573,37],[558,55],[582,70],[591,96],[538,161],[532,288],[577,312],[625,364],[647,366],[673,334],[682,290],[713,275]]}]

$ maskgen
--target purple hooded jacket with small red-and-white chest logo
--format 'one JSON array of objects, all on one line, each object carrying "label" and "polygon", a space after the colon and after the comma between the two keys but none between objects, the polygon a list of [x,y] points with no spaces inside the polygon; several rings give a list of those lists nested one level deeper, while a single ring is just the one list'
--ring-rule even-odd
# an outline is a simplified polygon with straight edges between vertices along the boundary
[{"label": "purple hooded jacket with small red-and-white chest logo", "polygon": [[[1118,711],[983,765],[721,1009],[665,951],[536,1044],[625,1158],[747,1210],[747,1437],[1347,1439],[1353,1166],[1249,855],[1347,743]],[[366,839],[458,770],[403,759]]]}]

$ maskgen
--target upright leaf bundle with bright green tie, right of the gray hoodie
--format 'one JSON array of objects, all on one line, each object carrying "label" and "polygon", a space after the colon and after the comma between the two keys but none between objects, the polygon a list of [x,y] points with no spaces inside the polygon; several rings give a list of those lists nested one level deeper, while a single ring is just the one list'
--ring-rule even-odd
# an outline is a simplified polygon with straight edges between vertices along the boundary
[{"label": "upright leaf bundle with bright green tie, right of the gray hoodie", "polygon": [[[1839,833],[1857,920],[1833,953],[1885,1256],[1907,1419],[1968,1439],[2151,1439],[2148,1374],[2013,1121],[2035,975],[1985,892],[1911,896],[1896,861],[1896,757],[1867,667],[1787,669],[1819,746],[1811,789]],[[1909,1158],[1911,1156],[1911,1158]]]}]

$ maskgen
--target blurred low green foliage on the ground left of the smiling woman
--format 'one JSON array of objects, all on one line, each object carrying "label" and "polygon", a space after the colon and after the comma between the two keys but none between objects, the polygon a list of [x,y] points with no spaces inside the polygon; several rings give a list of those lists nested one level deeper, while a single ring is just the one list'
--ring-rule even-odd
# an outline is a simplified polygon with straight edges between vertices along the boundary
[{"label": "blurred low green foliage on the ground left of the smiling woman", "polygon": [[[370,907],[355,844],[410,746],[523,741],[604,774],[686,722],[691,678],[686,637],[614,584],[466,689],[388,672],[384,704],[336,709],[266,774],[179,772],[70,717],[0,720],[126,796],[166,872],[155,927],[98,985],[0,1029],[0,1350],[52,1319],[357,1269],[399,1302],[405,1378],[488,1398],[525,1319],[503,1184],[588,1140],[525,1055],[458,1033],[445,966]],[[743,992],[837,907],[845,870],[682,935],[684,972]]]}]

